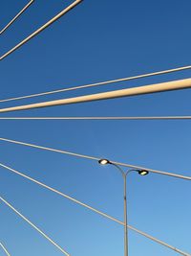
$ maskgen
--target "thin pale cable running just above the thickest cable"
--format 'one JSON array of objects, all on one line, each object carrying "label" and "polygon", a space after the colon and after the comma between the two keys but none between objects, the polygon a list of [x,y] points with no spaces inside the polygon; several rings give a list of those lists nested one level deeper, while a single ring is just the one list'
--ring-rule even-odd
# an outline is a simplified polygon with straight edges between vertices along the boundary
[{"label": "thin pale cable running just above the thickest cable", "polygon": [[168,74],[168,73],[173,73],[173,72],[178,72],[178,71],[183,71],[183,70],[188,70],[188,69],[191,69],[191,66],[184,66],[184,67],[173,68],[173,69],[163,70],[163,71],[154,72],[154,73],[138,75],[138,76],[134,76],[134,77],[128,77],[128,78],[111,80],[111,81],[100,81],[100,82],[96,82],[96,83],[74,86],[74,87],[70,87],[70,88],[63,88],[63,89],[58,89],[58,90],[53,90],[53,91],[35,93],[35,94],[31,94],[31,95],[26,95],[26,96],[3,99],[3,100],[0,100],[0,103],[29,99],[29,98],[34,98],[34,97],[39,97],[39,96],[44,96],[44,95],[65,92],[65,91],[73,91],[73,90],[77,90],[77,89],[89,88],[89,87],[94,87],[94,86],[98,86],[98,85],[106,85],[106,84],[119,82],[119,81],[132,81],[132,80],[136,80],[136,79],[143,79],[143,78],[148,78],[148,77],[152,77],[152,76],[158,76],[158,75],[163,75],[163,74]]}]

